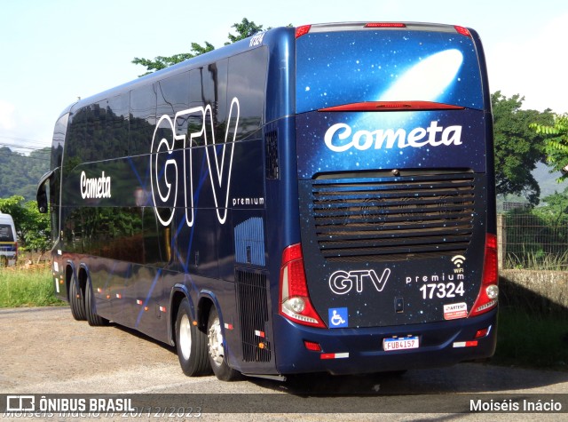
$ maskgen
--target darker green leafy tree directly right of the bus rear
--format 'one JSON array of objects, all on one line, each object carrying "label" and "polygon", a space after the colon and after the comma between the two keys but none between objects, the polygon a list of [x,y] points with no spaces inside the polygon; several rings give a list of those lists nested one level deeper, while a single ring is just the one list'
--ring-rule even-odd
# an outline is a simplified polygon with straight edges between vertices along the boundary
[{"label": "darker green leafy tree directly right of the bus rear", "polygon": [[522,195],[529,203],[539,203],[540,187],[531,171],[544,161],[544,136],[529,128],[529,124],[552,122],[549,109],[540,113],[522,110],[525,97],[510,98],[501,92],[491,96],[495,137],[495,183],[497,194]]}]

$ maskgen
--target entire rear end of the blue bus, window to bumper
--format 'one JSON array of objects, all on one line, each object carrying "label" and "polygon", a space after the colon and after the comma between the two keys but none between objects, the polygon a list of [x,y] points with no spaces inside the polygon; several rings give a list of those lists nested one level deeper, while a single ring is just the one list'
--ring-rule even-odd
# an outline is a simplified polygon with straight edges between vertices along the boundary
[{"label": "entire rear end of the blue bus, window to bumper", "polygon": [[301,243],[282,253],[280,373],[493,354],[490,107],[473,30],[296,28]]}]

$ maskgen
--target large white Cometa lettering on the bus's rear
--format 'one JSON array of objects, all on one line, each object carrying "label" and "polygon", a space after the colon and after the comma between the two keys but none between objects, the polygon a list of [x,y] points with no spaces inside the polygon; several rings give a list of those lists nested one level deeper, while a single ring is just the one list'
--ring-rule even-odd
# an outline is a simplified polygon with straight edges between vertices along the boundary
[{"label": "large white Cometa lettering on the bus's rear", "polygon": [[[346,123],[335,123],[326,131],[324,140],[326,146],[336,153],[345,152],[351,147],[364,151],[375,146],[375,149],[399,148],[404,147],[439,147],[441,145],[461,145],[461,126],[454,125],[446,128],[438,126],[438,122],[430,122],[428,128],[417,127],[409,131],[402,128],[397,129],[377,129],[375,131],[356,131]],[[440,136],[438,137],[438,133]]]}]

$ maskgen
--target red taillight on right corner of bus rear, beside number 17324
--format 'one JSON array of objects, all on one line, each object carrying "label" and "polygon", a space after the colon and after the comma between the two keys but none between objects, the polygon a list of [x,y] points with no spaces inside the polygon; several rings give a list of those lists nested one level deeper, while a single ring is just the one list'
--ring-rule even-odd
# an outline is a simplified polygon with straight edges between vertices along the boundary
[{"label": "red taillight on right corner of bus rear, beside number 17324", "polygon": [[483,280],[476,303],[471,308],[469,316],[476,316],[497,306],[499,298],[499,274],[497,271],[497,236],[485,236],[485,260]]}]

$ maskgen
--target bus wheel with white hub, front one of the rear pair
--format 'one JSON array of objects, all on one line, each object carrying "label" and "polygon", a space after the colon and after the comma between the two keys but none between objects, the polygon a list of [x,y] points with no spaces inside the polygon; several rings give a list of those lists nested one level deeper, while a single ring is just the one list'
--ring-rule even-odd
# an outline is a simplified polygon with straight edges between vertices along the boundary
[{"label": "bus wheel with white hub, front one of the rear pair", "polygon": [[177,358],[185,375],[194,377],[210,373],[207,359],[207,335],[191,321],[187,298],[179,304],[176,319]]}]

